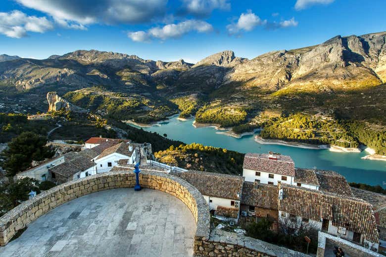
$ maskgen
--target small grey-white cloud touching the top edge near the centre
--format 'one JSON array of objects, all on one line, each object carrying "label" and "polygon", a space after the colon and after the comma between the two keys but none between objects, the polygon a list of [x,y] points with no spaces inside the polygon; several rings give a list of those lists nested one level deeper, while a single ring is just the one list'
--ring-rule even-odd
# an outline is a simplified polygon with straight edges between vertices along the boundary
[{"label": "small grey-white cloud touching the top edge near the centre", "polygon": [[186,12],[196,16],[207,16],[214,9],[230,10],[229,0],[183,0]]}]

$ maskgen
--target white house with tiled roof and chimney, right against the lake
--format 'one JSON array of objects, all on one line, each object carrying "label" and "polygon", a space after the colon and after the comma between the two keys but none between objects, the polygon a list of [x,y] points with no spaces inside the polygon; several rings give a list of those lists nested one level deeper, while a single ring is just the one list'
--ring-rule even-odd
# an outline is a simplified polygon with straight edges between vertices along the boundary
[{"label": "white house with tiled roof and chimney, right against the lake", "polygon": [[270,152],[269,154],[247,153],[242,165],[245,181],[277,185],[293,184],[295,164],[290,156]]}]

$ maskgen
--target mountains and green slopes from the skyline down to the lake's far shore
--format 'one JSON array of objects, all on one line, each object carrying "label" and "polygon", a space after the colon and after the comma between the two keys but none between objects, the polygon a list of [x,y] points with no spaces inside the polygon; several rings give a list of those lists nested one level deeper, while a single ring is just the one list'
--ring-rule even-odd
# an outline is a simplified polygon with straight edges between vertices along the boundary
[{"label": "mountains and green slopes from the skyline down to the lake's far shore", "polygon": [[109,120],[150,124],[180,113],[263,139],[386,154],[386,33],[333,37],[248,60],[232,51],[196,64],[78,50],[0,60],[0,112],[45,112],[56,92]]}]

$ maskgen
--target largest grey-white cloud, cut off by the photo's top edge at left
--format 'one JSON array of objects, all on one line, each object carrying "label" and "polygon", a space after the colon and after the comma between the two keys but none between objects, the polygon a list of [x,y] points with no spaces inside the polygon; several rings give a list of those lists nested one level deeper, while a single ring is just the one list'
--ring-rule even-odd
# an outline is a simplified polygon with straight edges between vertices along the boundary
[{"label": "largest grey-white cloud, cut off by the photo's top edge at left", "polygon": [[86,29],[101,24],[137,24],[164,15],[167,0],[16,0],[52,16],[61,26]]}]

